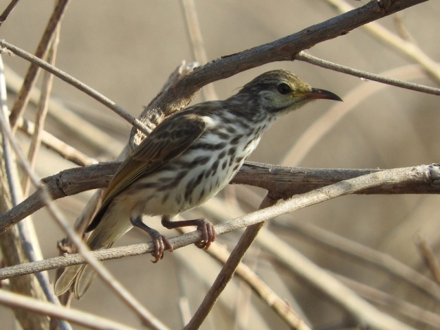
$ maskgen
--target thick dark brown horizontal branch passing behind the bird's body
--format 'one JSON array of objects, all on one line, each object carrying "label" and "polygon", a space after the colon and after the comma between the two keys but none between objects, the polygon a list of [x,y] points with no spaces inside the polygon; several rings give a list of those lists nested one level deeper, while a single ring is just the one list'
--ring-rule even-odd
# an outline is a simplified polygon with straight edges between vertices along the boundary
[{"label": "thick dark brown horizontal branch passing behind the bird's body", "polygon": [[[63,170],[43,179],[52,199],[76,195],[96,188],[106,188],[120,162],[108,162],[82,168]],[[393,186],[375,186],[357,194],[439,194],[440,166],[428,166],[426,181],[405,181]],[[248,184],[269,190],[272,199],[286,199],[334,184],[338,181],[380,172],[378,169],[291,168],[247,162],[232,179],[232,184]],[[34,192],[18,206],[0,216],[0,233],[28,217],[45,204]]]}]

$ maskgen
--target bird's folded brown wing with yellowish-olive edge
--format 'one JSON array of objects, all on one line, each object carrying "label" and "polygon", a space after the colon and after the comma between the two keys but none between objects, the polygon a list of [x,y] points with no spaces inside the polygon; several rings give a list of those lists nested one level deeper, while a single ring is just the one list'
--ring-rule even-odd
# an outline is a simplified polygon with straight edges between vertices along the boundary
[{"label": "bird's folded brown wing with yellowish-olive edge", "polygon": [[206,129],[200,115],[177,113],[157,126],[144,141],[126,157],[104,193],[102,206],[86,232],[94,230],[112,199],[142,176],[178,157],[199,138]]}]

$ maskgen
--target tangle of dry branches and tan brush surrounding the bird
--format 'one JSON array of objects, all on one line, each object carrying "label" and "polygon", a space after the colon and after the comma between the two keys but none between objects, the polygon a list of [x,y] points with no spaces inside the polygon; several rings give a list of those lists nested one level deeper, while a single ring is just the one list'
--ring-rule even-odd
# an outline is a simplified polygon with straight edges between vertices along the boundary
[{"label": "tangle of dry branches and tan brush surrounding the bird", "polygon": [[[2,329],[440,329],[440,170],[422,165],[439,162],[439,1],[14,3],[0,17]],[[56,77],[35,81],[45,63],[27,52]],[[59,303],[54,269],[96,263],[72,228],[109,161],[173,111],[276,68],[344,103],[275,124],[251,156],[265,164],[183,214],[217,223],[207,253],[197,232],[162,230],[179,250],[153,265],[131,230],[96,254],[118,259],[85,298]],[[59,256],[65,236],[81,255]]]}]

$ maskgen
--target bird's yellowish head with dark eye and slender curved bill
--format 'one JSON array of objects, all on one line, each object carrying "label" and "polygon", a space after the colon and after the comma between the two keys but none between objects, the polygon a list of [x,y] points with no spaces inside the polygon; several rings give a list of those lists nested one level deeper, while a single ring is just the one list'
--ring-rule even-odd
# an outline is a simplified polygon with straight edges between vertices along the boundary
[{"label": "bird's yellowish head with dark eye and slender curved bill", "polygon": [[258,102],[261,109],[269,113],[286,113],[317,99],[342,101],[331,91],[312,88],[285,70],[261,74],[246,84],[239,94],[248,94]]}]

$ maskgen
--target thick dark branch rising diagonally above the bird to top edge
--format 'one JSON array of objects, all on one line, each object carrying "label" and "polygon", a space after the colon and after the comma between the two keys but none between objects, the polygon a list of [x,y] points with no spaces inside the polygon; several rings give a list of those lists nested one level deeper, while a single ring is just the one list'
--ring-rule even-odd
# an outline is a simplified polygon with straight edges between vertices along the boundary
[{"label": "thick dark branch rising diagonally above the bird to top edge", "polygon": [[[296,54],[301,50],[347,34],[366,23],[425,1],[427,0],[395,0],[391,1],[386,8],[382,5],[383,1],[381,3],[370,1],[361,8],[305,28],[285,38],[210,61],[206,65],[197,67],[191,74],[176,80],[169,89],[163,91],[148,104],[138,119],[147,126],[149,126],[148,122],[157,124],[167,115],[185,107],[197,95],[199,89],[208,83],[229,78],[234,74],[266,63],[294,61]],[[135,131],[135,129],[132,130],[132,137]]]}]

